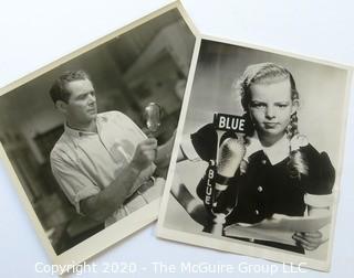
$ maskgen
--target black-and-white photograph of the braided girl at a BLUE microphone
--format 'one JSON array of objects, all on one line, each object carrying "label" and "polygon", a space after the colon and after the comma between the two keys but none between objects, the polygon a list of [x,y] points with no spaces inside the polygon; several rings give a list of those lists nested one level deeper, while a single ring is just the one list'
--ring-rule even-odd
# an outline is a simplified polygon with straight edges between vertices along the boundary
[{"label": "black-and-white photograph of the braided girl at a BLUE microphone", "polygon": [[195,55],[158,236],[327,270],[350,71],[208,38]]}]

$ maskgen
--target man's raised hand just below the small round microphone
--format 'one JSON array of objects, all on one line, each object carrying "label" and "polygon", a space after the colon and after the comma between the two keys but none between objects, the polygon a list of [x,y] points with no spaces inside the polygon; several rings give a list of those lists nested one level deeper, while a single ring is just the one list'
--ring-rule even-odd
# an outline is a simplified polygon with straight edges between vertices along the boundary
[{"label": "man's raised hand just below the small round microphone", "polygon": [[156,158],[157,140],[148,138],[138,143],[133,156],[132,165],[139,171],[147,168]]}]

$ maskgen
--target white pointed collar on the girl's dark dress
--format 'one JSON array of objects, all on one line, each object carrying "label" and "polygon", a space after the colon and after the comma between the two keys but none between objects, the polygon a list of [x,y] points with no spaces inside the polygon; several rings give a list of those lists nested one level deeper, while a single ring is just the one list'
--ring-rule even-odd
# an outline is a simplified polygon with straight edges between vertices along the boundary
[{"label": "white pointed collar on the girl's dark dress", "polygon": [[248,161],[249,157],[257,151],[263,151],[268,157],[271,164],[277,164],[280,161],[284,160],[290,152],[290,141],[284,135],[280,140],[273,143],[270,147],[263,147],[258,138],[258,135],[254,132],[254,136],[249,138],[249,145],[246,147],[244,159]]}]

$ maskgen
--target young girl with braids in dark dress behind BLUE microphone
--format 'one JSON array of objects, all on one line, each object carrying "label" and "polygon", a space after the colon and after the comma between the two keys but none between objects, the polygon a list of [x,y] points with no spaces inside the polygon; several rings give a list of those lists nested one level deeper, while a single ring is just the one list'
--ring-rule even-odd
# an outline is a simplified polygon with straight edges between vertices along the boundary
[{"label": "young girl with braids in dark dress behind BLUE microphone", "polygon": [[[219,210],[235,205],[226,225],[253,224],[275,213],[289,216],[329,213],[334,168],[325,152],[317,152],[299,133],[299,92],[291,73],[272,63],[250,65],[237,89],[249,127],[244,142],[221,139],[221,157],[217,158],[217,131],[207,125],[184,140],[178,157],[179,160],[219,160],[216,179]],[[197,186],[197,194],[204,201],[207,183],[206,174]],[[206,202],[198,203],[183,184],[173,186],[171,193],[202,225],[208,225],[215,216],[212,207]],[[299,231],[293,239],[299,247],[293,250],[301,253],[303,248],[313,250],[325,240],[320,231]]]}]

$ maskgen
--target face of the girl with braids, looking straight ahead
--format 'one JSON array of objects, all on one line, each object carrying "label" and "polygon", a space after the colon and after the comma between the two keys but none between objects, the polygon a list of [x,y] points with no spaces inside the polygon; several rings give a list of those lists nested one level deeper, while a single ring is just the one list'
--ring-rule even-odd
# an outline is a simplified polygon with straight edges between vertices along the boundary
[{"label": "face of the girl with braids, looking straight ahead", "polygon": [[290,81],[270,84],[252,84],[249,111],[260,137],[278,141],[298,109],[298,101],[291,99]]}]

